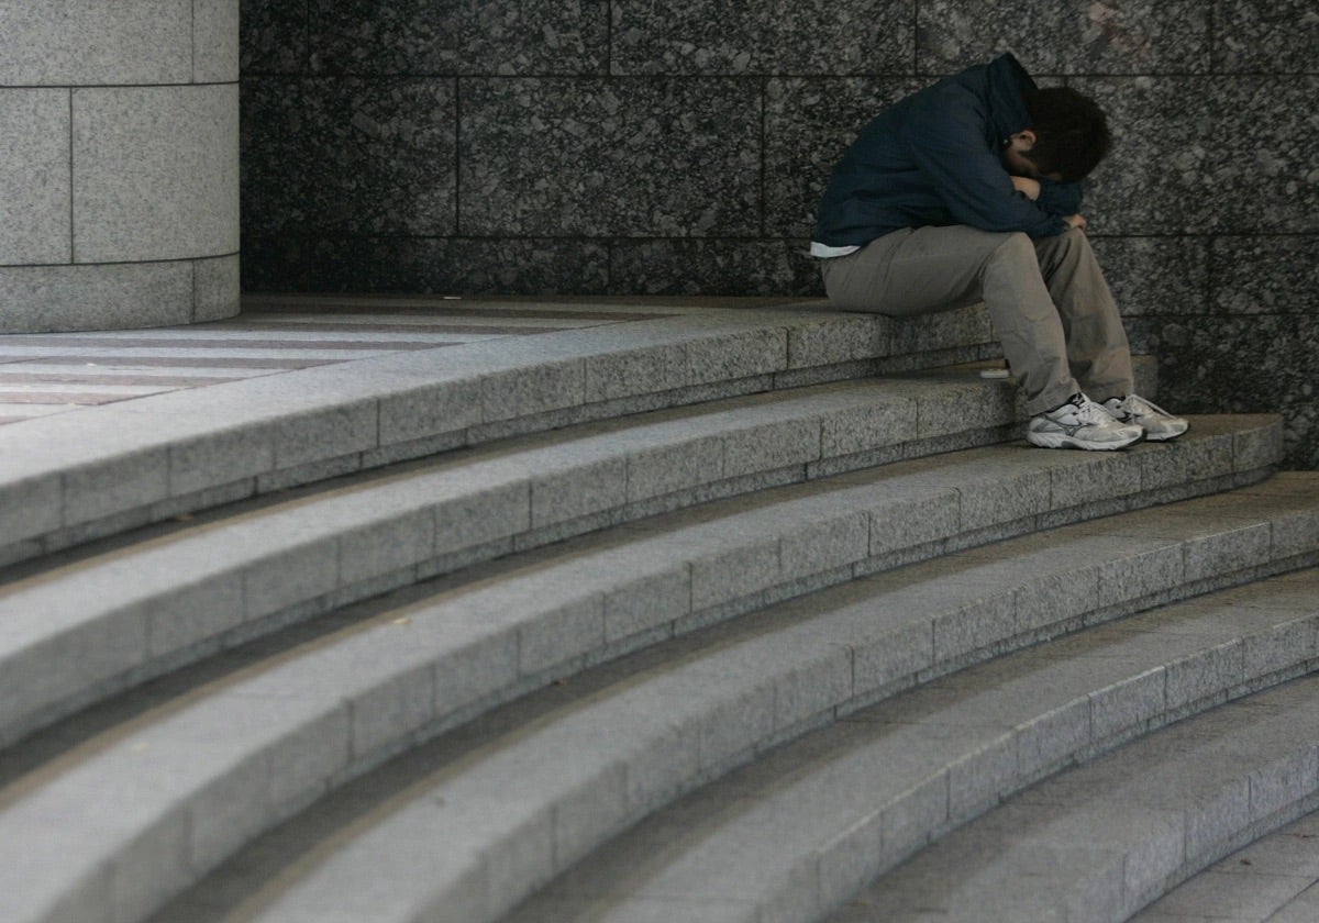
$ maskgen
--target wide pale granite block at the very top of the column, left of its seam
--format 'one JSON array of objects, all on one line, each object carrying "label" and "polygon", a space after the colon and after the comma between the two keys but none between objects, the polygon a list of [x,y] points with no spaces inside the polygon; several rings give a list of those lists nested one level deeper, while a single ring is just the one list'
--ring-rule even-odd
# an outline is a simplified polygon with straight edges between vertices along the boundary
[{"label": "wide pale granite block at the very top of the column, left of its seam", "polygon": [[66,0],[59,12],[51,16],[45,7],[7,4],[0,84],[191,82],[190,0]]}]

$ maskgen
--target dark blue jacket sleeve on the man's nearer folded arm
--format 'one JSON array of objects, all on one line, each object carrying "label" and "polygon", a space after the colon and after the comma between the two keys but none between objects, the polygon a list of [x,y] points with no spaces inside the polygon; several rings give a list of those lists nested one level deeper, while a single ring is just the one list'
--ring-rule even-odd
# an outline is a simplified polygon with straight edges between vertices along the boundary
[{"label": "dark blue jacket sleeve on the man's nearer folded arm", "polygon": [[998,154],[985,146],[984,117],[969,100],[944,95],[914,109],[902,141],[959,224],[1051,237],[1067,222],[1017,195]]}]

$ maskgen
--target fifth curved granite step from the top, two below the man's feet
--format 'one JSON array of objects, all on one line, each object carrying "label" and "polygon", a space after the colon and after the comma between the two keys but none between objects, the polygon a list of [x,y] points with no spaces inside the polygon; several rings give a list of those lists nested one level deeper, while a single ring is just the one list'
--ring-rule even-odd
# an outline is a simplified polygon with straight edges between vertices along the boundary
[{"label": "fifth curved granite step from the top, two below the man's feet", "polygon": [[[1319,571],[1293,578],[1319,587]],[[1308,608],[1297,607],[1295,584],[1290,578],[1265,581],[1258,585],[1260,596],[1249,601],[1223,600],[1223,593],[1196,596],[1108,625],[1116,630],[1082,633],[1063,643],[1009,654],[942,682],[948,704],[938,711],[926,701],[938,694],[927,696],[933,690],[926,688],[856,712],[845,719],[848,724],[882,727],[885,736],[868,740],[859,730],[847,738],[845,749],[828,750],[811,746],[811,736],[794,741],[770,757],[787,766],[785,785],[774,785],[776,773],[761,766],[749,771],[751,782],[740,781],[747,771],[733,773],[665,808],[711,819],[704,829],[695,828],[700,821],[689,828],[679,856],[666,843],[648,839],[644,828],[629,832],[624,841],[611,841],[599,857],[586,857],[551,882],[506,923],[579,919],[574,911],[605,898],[612,915],[600,918],[601,923],[625,920],[629,906],[654,901],[661,891],[698,902],[719,891],[729,901],[728,912],[720,918],[718,910],[707,910],[704,923],[758,919],[756,914],[769,908],[785,923],[822,919],[927,843],[971,823],[1001,799],[1175,721],[1312,671],[1319,666],[1319,596]],[[1279,585],[1282,603],[1269,596]],[[1242,628],[1231,641],[1186,630],[1196,614],[1213,622],[1220,616],[1216,607],[1260,613],[1249,630]],[[1157,653],[1130,663],[1133,647],[1151,643],[1140,629],[1179,610],[1191,617],[1161,640]],[[1228,659],[1237,661],[1231,670]],[[1006,688],[997,686],[1004,682],[1000,671],[1010,672],[1014,661],[1030,671],[1009,679]],[[1087,661],[1103,669],[1066,676],[1070,669],[1086,671]],[[1068,701],[1055,701],[1062,695],[1057,687],[1050,687],[1047,701],[1021,698],[1026,680],[1059,678],[1078,691]],[[1157,700],[1153,705],[1151,699]],[[987,715],[993,715],[992,721]],[[809,774],[798,775],[794,761],[785,758],[794,749],[810,754]],[[827,753],[835,750],[838,756],[830,758]],[[878,773],[881,766],[888,771]],[[719,806],[731,802],[745,808],[723,823]],[[815,807],[799,816],[794,804]],[[661,820],[657,816],[649,824],[673,829]],[[745,852],[732,849],[731,844],[754,843],[768,829],[780,829],[780,836]],[[641,857],[652,854],[662,861],[653,873],[632,864],[632,857],[644,862]],[[716,868],[718,877],[707,881],[703,869],[708,868]],[[607,882],[619,876],[627,877],[627,887],[609,889]],[[729,893],[729,881],[743,883],[743,890]],[[677,902],[673,914],[682,916]]]}]

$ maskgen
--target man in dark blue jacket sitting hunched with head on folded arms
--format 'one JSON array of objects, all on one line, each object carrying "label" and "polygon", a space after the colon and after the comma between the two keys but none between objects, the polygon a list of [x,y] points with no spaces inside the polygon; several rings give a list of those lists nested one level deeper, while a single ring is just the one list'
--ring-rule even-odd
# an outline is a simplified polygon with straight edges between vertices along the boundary
[{"label": "man in dark blue jacket sitting hunched with head on folded arms", "polygon": [[1091,99],[1039,90],[1010,54],[907,96],[861,131],[824,191],[811,254],[830,301],[896,316],[984,301],[1035,446],[1182,435],[1184,419],[1133,393],[1079,214],[1108,148]]}]

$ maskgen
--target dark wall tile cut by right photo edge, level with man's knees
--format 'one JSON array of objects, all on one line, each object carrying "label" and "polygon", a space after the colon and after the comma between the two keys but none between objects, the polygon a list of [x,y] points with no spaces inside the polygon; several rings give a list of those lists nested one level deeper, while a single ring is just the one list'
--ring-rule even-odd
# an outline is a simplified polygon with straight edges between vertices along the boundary
[{"label": "dark wall tile cut by right photo edge, level with man's knees", "polygon": [[1211,265],[1215,311],[1319,316],[1319,236],[1215,237]]}]

